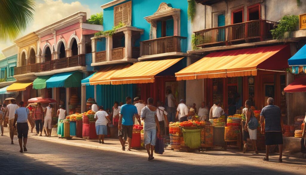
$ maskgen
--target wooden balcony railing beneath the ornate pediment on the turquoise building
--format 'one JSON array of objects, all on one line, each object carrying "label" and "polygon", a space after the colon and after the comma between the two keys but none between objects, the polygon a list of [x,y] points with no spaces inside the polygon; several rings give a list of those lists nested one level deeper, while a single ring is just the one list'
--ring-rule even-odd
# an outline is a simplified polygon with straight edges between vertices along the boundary
[{"label": "wooden balcony railing beneath the ornate pediment on the turquoise building", "polygon": [[167,36],[140,43],[142,56],[169,52],[186,52],[186,37]]}]

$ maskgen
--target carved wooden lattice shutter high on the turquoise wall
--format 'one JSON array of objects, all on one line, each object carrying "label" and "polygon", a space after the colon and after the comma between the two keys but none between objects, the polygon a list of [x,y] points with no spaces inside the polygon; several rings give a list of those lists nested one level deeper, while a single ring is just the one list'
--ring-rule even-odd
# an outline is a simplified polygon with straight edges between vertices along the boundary
[{"label": "carved wooden lattice shutter high on the turquoise wall", "polygon": [[123,22],[130,26],[132,23],[132,1],[114,7],[114,26]]}]

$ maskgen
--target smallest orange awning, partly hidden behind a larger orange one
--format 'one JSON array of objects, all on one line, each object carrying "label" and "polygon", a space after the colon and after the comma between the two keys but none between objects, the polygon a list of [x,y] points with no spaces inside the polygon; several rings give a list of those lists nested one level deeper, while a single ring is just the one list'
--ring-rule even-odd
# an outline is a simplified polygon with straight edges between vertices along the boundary
[{"label": "smallest orange awning, partly hidden behind a larger orange one", "polygon": [[108,66],[89,78],[90,85],[110,85],[110,78],[130,67],[130,64]]}]

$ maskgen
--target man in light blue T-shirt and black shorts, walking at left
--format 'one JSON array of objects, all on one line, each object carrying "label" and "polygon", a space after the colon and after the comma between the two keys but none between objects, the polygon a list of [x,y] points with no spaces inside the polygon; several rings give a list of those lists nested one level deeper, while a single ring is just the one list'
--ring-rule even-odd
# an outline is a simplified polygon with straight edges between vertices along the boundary
[{"label": "man in light blue T-shirt and black shorts, walking at left", "polygon": [[[19,103],[20,108],[16,109],[15,111],[15,119],[14,119],[14,126],[17,122],[17,133],[18,133],[18,142],[20,146],[20,152],[28,151],[27,141],[28,141],[28,132],[29,132],[29,125],[28,125],[28,117],[30,115],[29,109],[24,107],[24,102],[21,101]],[[23,149],[22,149],[22,141],[23,141]]]}]

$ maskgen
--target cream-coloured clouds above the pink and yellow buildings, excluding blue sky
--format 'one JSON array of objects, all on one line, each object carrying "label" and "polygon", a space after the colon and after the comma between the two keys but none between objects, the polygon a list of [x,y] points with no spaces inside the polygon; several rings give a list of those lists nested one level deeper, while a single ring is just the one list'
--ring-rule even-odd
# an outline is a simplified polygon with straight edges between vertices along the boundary
[{"label": "cream-coloured clouds above the pink and yellow buildings, excluding blue sky", "polygon": [[[43,0],[38,2],[35,7],[34,18],[32,22],[28,24],[27,29],[22,32],[20,36],[24,36],[30,32],[50,25],[53,22],[65,18],[78,11],[86,12],[88,18],[91,15],[91,10],[89,7],[87,5],[82,5],[78,1],[65,3],[62,0]],[[11,46],[12,44],[13,42],[9,40],[6,43],[0,43],[0,51],[6,47]]]}]

